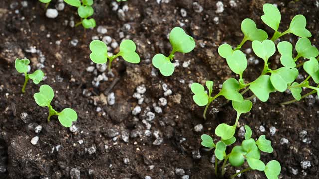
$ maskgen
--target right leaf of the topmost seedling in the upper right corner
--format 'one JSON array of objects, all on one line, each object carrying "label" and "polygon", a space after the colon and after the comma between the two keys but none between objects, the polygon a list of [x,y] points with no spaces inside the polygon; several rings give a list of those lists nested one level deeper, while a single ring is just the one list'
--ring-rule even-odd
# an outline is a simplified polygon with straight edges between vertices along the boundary
[{"label": "right leaf of the topmost seedling in the upper right corner", "polygon": [[298,37],[311,37],[311,33],[306,29],[306,18],[303,15],[296,15],[287,31]]}]

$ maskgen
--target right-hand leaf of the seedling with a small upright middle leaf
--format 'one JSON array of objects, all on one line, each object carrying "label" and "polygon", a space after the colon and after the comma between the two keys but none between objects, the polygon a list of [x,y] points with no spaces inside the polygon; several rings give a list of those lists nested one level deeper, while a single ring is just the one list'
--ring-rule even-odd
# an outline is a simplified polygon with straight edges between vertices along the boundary
[{"label": "right-hand leaf of the seedling with a small upright middle leaf", "polygon": [[239,89],[238,81],[234,78],[230,78],[223,83],[223,87],[218,95],[222,95],[228,100],[241,102],[244,98],[237,89]]}]

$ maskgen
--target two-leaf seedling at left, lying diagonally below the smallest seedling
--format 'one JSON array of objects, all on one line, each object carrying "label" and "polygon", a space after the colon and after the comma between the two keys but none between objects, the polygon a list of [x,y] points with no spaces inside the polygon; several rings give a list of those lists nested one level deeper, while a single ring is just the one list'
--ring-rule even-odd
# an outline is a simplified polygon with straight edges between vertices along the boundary
[{"label": "two-leaf seedling at left, lying diagonally below the smallest seedling", "polygon": [[78,115],[71,108],[65,108],[61,112],[56,112],[52,106],[51,101],[54,97],[54,91],[49,85],[41,85],[40,92],[34,94],[35,102],[41,107],[48,107],[50,114],[58,115],[59,122],[64,127],[71,127],[72,122],[76,121]]}]

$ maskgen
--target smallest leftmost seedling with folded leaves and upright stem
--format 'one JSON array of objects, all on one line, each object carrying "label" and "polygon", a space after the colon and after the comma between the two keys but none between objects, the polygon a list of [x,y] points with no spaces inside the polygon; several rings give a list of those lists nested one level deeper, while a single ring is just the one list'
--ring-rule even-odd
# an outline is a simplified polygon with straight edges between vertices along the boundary
[{"label": "smallest leftmost seedling with folded leaves and upright stem", "polygon": [[43,80],[44,77],[44,73],[42,70],[36,70],[31,74],[28,74],[28,65],[30,63],[29,59],[15,59],[15,69],[19,72],[19,73],[24,73],[24,84],[22,87],[22,93],[25,93],[25,87],[26,84],[28,83],[29,79],[33,80],[33,83],[38,84]]}]

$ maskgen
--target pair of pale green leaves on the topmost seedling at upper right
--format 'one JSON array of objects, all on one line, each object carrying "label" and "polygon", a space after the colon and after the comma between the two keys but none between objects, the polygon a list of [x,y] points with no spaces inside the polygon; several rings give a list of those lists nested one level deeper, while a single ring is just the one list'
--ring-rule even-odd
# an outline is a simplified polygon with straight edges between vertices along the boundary
[{"label": "pair of pale green leaves on the topmost seedling at upper right", "polygon": [[[278,8],[272,4],[264,4],[263,11],[262,21],[277,32],[281,20]],[[286,33],[292,33],[298,37],[311,37],[311,33],[306,29],[306,18],[303,15],[296,15],[291,20]]]}]

